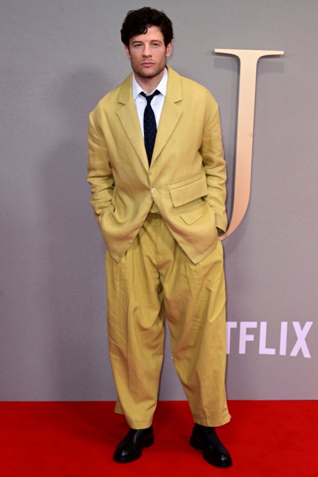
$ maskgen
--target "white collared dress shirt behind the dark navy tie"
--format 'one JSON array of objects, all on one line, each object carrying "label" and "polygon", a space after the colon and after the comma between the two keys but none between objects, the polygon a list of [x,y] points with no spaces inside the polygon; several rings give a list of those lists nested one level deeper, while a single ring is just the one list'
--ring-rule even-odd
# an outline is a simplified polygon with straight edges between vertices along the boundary
[{"label": "white collared dress shirt behind the dark navy tie", "polygon": [[[159,82],[157,88],[154,89],[154,91],[158,89],[158,91],[160,91],[160,94],[157,94],[156,96],[154,96],[150,103],[155,113],[157,129],[159,126],[161,111],[162,111],[162,107],[164,103],[165,94],[167,91],[167,81],[168,81],[168,70],[164,68],[163,77],[161,81]],[[140,94],[141,91],[143,91],[143,88],[137,83],[135,79],[135,75],[133,75],[133,83],[132,83],[133,98],[134,98],[136,109],[137,109],[141,132],[143,133],[143,137],[144,137],[144,112],[147,106],[147,99]],[[146,93],[146,91],[144,91],[144,93],[147,96],[150,96],[151,94],[153,94],[154,91],[152,91],[151,93]]]}]

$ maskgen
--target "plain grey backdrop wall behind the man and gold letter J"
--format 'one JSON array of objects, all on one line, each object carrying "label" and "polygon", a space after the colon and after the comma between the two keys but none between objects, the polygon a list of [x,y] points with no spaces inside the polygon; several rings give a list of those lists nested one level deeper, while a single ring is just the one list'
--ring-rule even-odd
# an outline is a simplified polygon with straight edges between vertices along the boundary
[{"label": "plain grey backdrop wall behind the man and gold letter J", "polygon": [[[130,72],[119,30],[127,10],[141,6],[1,1],[2,400],[116,397],[105,247],[85,180],[86,132],[89,111]],[[251,198],[239,228],[223,242],[232,326],[227,387],[234,399],[317,398],[318,2],[153,6],[174,24],[170,65],[219,102],[230,216],[239,62],[212,52],[285,50],[258,64]],[[160,398],[184,398],[168,341]]]}]

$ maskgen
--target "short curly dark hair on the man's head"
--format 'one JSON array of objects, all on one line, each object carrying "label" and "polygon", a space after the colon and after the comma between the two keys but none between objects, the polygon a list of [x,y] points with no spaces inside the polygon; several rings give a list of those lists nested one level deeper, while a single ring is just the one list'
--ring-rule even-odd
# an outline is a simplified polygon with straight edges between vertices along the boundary
[{"label": "short curly dark hair on the man's head", "polygon": [[144,6],[139,10],[129,10],[123,22],[121,41],[129,47],[129,40],[136,35],[147,33],[148,26],[158,26],[162,32],[164,45],[173,38],[172,22],[163,11]]}]

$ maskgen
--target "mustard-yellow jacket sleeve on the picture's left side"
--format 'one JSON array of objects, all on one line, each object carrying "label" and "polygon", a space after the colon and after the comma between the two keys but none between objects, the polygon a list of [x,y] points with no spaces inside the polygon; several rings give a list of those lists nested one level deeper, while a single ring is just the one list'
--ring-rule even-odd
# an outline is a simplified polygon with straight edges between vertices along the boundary
[{"label": "mustard-yellow jacket sleeve on the picture's left side", "polygon": [[114,178],[105,139],[98,126],[96,108],[89,114],[87,170],[87,181],[91,185],[90,203],[95,213],[95,219],[101,227],[102,216],[109,208],[112,208]]}]

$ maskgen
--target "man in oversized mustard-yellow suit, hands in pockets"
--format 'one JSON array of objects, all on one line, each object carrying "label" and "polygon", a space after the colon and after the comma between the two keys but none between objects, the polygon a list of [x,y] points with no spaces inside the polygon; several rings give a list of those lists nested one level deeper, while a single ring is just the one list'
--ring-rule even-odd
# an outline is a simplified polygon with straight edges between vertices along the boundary
[{"label": "man in oversized mustard-yellow suit, hands in pockets", "polygon": [[218,106],[166,66],[172,23],[129,11],[121,30],[132,74],[89,118],[91,204],[107,246],[108,341],[130,430],[114,460],[154,443],[163,355],[163,306],[176,371],[195,422],[190,444],[229,467],[215,426],[230,420],[225,393],[225,285],[218,237],[227,227]]}]

